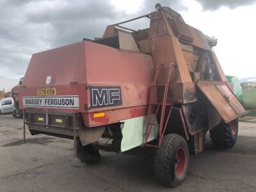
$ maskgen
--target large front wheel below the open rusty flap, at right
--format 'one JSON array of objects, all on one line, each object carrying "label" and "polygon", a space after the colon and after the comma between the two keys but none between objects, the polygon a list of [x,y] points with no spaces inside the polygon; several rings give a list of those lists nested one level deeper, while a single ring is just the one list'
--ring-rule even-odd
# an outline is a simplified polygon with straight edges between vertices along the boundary
[{"label": "large front wheel below the open rusty flap, at right", "polygon": [[238,118],[228,122],[221,122],[210,131],[212,143],[218,148],[230,148],[237,140]]}]

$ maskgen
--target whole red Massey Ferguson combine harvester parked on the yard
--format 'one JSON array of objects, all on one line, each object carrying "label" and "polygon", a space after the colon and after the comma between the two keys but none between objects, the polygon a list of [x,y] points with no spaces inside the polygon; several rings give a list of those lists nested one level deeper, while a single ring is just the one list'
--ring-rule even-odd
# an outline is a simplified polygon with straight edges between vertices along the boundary
[{"label": "whole red Massey Ferguson combine harvester parked on the yard", "polygon": [[[33,54],[13,88],[24,130],[73,139],[86,163],[99,161],[99,150],[155,147],[165,186],[184,180],[189,153],[203,151],[207,131],[216,147],[232,147],[246,111],[212,51],[216,40],[172,9],[156,8],[108,26],[102,38]],[[124,27],[143,17],[149,28]]]}]

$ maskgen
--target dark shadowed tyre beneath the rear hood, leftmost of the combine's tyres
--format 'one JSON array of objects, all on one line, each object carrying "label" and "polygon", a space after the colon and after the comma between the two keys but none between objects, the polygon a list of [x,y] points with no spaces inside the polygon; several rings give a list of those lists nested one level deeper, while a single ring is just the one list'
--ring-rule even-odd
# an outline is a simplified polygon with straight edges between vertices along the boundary
[{"label": "dark shadowed tyre beneath the rear hood, leftmost of the combine's tyres", "polygon": [[93,144],[83,146],[81,141],[77,141],[76,145],[76,156],[83,163],[95,164],[101,159],[99,150],[93,148]]}]

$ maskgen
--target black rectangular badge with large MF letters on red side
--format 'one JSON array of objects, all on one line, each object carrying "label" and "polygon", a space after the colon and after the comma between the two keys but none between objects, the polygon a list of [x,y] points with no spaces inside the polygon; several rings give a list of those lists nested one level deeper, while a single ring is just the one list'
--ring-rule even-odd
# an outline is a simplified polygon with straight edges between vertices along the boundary
[{"label": "black rectangular badge with large MF letters on red side", "polygon": [[90,86],[91,108],[122,105],[120,86]]}]

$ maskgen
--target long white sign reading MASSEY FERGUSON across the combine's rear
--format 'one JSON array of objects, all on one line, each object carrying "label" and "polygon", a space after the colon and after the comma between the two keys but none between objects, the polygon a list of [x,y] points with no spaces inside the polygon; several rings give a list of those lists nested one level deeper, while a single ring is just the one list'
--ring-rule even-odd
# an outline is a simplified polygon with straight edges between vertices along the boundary
[{"label": "long white sign reading MASSEY FERGUSON across the combine's rear", "polygon": [[50,97],[23,97],[24,107],[33,108],[79,108],[78,95],[50,96]]}]

